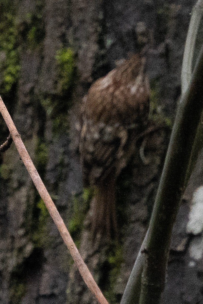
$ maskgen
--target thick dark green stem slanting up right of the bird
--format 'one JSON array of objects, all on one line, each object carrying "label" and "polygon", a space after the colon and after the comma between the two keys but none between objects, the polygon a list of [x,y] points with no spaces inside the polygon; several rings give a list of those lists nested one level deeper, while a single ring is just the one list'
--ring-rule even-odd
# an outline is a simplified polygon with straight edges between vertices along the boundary
[{"label": "thick dark green stem slanting up right of the bird", "polygon": [[[185,189],[188,163],[203,110],[203,47],[180,102],[156,196],[146,247],[139,304],[160,302],[173,223]],[[202,143],[201,143],[202,147]]]}]

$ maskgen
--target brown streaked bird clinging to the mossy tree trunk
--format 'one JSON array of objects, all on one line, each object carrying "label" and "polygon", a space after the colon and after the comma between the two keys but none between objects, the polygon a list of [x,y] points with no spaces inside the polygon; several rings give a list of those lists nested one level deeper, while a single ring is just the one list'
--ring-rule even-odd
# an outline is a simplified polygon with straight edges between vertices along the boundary
[{"label": "brown streaked bird clinging to the mossy tree trunk", "polygon": [[145,58],[131,54],[97,79],[81,105],[80,162],[85,187],[94,187],[91,230],[118,236],[116,182],[136,150],[149,118],[149,79]]}]

